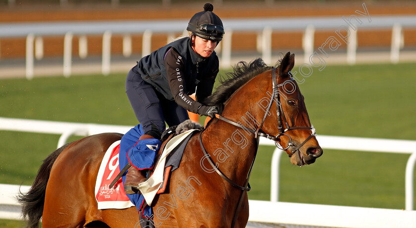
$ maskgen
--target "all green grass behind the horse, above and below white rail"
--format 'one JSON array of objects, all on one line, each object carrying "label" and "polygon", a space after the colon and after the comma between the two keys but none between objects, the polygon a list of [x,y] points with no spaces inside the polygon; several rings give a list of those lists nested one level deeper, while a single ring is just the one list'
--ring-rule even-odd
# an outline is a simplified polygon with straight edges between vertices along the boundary
[{"label": "all green grass behind the horse, above and below white rail", "polygon": [[[313,70],[300,89],[319,135],[416,139],[414,64]],[[125,95],[124,81],[124,74],[1,80],[0,116],[134,126],[137,120]],[[0,182],[31,184],[58,137],[0,131]],[[270,146],[260,148],[251,178],[251,199],[269,200],[273,150]],[[284,155],[279,199],[402,209],[408,157],[324,150],[314,164],[300,168]]]}]

